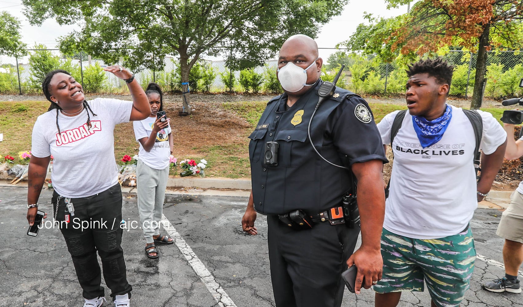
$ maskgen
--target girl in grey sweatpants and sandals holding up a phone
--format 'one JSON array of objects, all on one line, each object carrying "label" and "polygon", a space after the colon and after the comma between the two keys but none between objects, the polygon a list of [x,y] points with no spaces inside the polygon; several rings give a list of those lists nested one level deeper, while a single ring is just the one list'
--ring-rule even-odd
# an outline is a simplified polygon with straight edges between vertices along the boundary
[{"label": "girl in grey sweatpants and sandals holding up a phone", "polygon": [[173,152],[173,134],[167,115],[157,118],[163,111],[163,93],[155,83],[145,89],[151,114],[133,123],[134,136],[140,143],[136,167],[138,210],[145,237],[145,255],[158,258],[156,244],[173,244],[167,234],[160,234],[165,188],[169,176],[169,156]]}]

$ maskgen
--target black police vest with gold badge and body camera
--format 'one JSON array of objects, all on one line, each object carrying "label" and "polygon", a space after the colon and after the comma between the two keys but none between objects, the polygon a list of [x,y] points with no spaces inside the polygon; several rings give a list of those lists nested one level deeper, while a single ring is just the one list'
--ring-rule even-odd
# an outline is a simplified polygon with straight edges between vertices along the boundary
[{"label": "black police vest with gold badge and body camera", "polygon": [[[283,214],[302,209],[315,214],[338,206],[343,195],[350,190],[350,172],[331,166],[314,151],[308,139],[307,128],[319,100],[317,89],[305,93],[287,111],[286,95],[269,101],[255,131],[249,135],[252,192],[254,208],[261,214]],[[336,95],[339,94],[339,95]],[[311,138],[316,150],[332,163],[347,166],[334,146],[324,146],[327,141],[327,118],[352,92],[336,88],[335,97],[324,101],[311,123]],[[279,144],[278,165],[264,164],[266,142]]]}]

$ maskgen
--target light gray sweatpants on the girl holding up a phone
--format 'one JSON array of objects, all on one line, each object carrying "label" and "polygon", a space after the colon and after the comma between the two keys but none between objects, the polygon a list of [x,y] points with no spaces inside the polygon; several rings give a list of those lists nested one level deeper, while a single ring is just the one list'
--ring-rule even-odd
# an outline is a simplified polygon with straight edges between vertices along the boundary
[{"label": "light gray sweatpants on the girl holding up a phone", "polygon": [[136,184],[138,190],[138,211],[143,228],[145,242],[153,243],[153,235],[160,234],[165,188],[169,178],[169,167],[156,170],[141,160],[136,166]]}]

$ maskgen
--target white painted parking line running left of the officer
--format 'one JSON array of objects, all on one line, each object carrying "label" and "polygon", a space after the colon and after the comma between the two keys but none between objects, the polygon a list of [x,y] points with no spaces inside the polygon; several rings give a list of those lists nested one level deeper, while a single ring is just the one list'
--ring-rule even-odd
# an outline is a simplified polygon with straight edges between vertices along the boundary
[{"label": "white painted parking line running left of the officer", "polygon": [[170,237],[173,238],[174,244],[178,246],[180,252],[185,256],[185,259],[187,259],[187,262],[191,265],[196,275],[200,277],[209,292],[211,292],[212,297],[217,301],[218,305],[220,307],[236,307],[236,304],[231,300],[229,295],[225,293],[222,286],[218,284],[216,278],[203,265],[189,244],[185,242],[184,238],[181,238],[181,235],[176,231],[165,215],[162,215],[161,225],[163,225]]}]

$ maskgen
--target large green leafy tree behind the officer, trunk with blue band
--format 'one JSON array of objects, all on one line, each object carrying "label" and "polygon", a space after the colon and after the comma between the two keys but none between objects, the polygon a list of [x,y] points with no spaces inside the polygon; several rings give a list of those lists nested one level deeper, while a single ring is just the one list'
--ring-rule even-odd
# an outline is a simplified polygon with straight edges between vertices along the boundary
[{"label": "large green leafy tree behind the officer, trunk with blue band", "polygon": [[[131,69],[163,67],[166,54],[177,54],[184,83],[203,53],[224,52],[230,57],[228,64],[241,58],[238,65],[259,66],[291,34],[315,37],[321,25],[338,15],[347,2],[22,0],[32,25],[48,18],[61,25],[81,23],[79,31],[62,37],[61,49],[86,51],[106,63],[123,57],[124,65]],[[187,85],[182,91],[187,92]],[[190,111],[188,101],[184,106]]]}]

